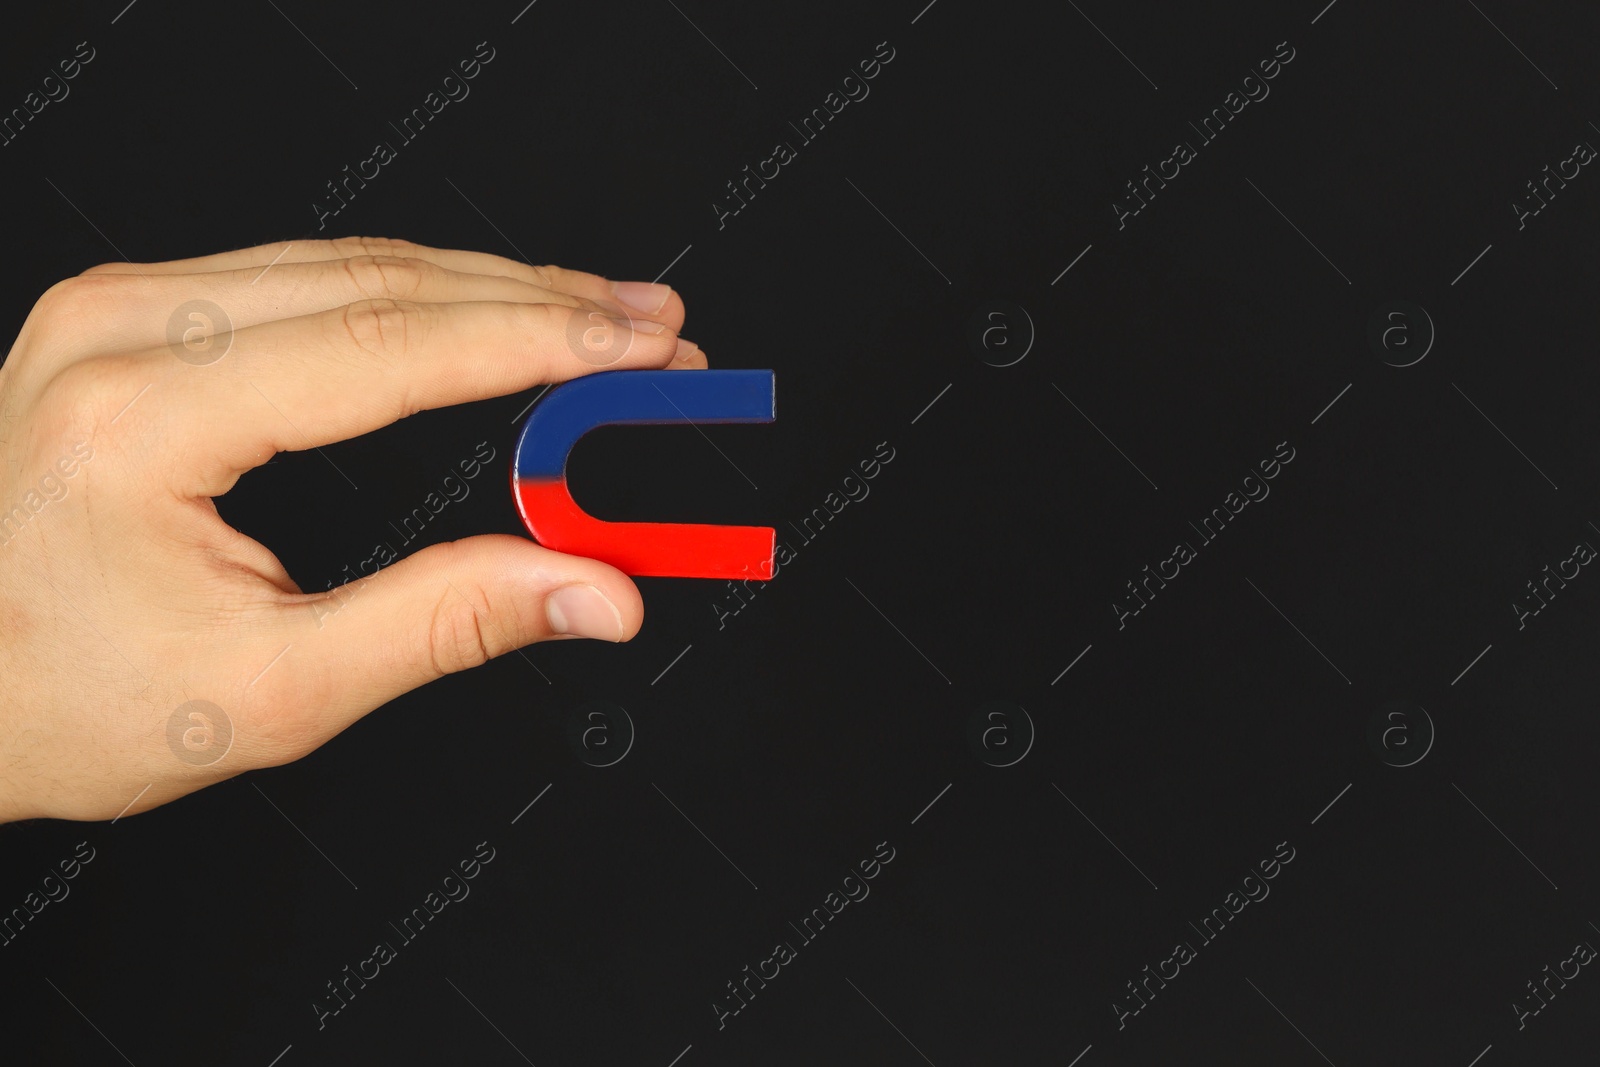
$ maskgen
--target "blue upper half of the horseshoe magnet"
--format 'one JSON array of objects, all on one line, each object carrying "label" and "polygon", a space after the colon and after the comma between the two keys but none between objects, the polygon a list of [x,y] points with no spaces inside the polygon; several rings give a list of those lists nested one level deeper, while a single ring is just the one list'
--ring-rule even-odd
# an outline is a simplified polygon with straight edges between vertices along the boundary
[{"label": "blue upper half of the horseshoe magnet", "polygon": [[562,478],[578,438],[600,426],[771,422],[773,371],[600,371],[550,389],[517,442],[517,478]]}]

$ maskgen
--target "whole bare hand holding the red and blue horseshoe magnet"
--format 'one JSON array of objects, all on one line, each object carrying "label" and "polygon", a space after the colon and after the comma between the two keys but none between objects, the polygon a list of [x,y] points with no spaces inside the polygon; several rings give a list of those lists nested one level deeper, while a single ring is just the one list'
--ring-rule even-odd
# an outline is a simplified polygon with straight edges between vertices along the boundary
[{"label": "whole bare hand holding the red and blue horseshoe magnet", "polygon": [[[178,317],[198,333],[170,344],[197,299],[232,334]],[[610,565],[491,534],[306,593],[213,498],[421,410],[704,368],[682,325],[667,286],[387,238],[51,286],[0,366],[0,822],[147,811],[515,648],[632,638],[643,603]]]}]

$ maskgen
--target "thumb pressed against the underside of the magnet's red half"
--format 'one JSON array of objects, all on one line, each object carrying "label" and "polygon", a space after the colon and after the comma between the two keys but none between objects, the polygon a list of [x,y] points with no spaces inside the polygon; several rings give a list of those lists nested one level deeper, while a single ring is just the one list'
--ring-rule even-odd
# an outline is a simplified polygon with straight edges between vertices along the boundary
[{"label": "thumb pressed against the underside of the magnet's red half", "polygon": [[446,673],[557,637],[626,641],[645,605],[610,563],[509,534],[437,544],[309,598],[294,688],[326,709],[326,736]]}]

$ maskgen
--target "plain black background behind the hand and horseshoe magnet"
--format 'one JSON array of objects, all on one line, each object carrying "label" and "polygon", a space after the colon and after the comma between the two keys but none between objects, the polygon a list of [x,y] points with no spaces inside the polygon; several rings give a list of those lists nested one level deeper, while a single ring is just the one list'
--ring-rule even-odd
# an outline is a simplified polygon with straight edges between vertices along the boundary
[{"label": "plain black background behind the hand and horseshoe magnet", "polygon": [[[1600,579],[1525,629],[1510,605],[1600,542],[1600,178],[1520,230],[1510,205],[1600,144],[1600,11],[922,3],[6,18],[3,110],[96,50],[0,147],[8,336],[91,264],[269,240],[670,264],[685,336],[773,368],[779,418],[709,430],[726,461],[688,427],[603,430],[574,493],[773,525],[798,555],[722,627],[722,582],[642,579],[627,646],[506,656],[115,825],[6,827],[0,909],[75,843],[96,859],[0,947],[0,1059],[1594,1061],[1600,977],[1523,1029],[1512,1003],[1600,944]],[[325,182],[478,42],[470,96],[318,232]],[[789,122],[880,42],[870,96],[800,144]],[[1200,146],[1187,123],[1278,42],[1270,96]],[[1198,157],[1118,229],[1125,182],[1179,139]],[[778,141],[798,158],[718,227]],[[1368,344],[1394,301],[1437,331],[1413,366]],[[486,440],[426,539],[518,533],[533,395],[283,454],[222,514],[322,589]],[[790,536],[883,442],[870,496]],[[1280,442],[1270,496],[1118,629],[1125,582]],[[589,701],[637,729],[613,766],[568,741]],[[1026,749],[1011,713],[1011,766],[968,742],[989,701],[1037,729]],[[1368,741],[1387,701],[1437,729],[1413,766]],[[470,897],[318,1029],[325,984],[480,841]],[[725,984],[880,841],[870,896],[718,1029]],[[1280,841],[1270,896],[1202,944],[1189,923]],[[1197,960],[1118,1029],[1179,941]]]}]

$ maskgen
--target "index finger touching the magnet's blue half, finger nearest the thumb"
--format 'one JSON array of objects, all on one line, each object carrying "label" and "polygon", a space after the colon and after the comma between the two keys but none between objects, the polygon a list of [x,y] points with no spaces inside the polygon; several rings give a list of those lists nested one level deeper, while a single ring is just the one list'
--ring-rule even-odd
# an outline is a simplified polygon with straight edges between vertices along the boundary
[{"label": "index finger touching the magnet's blue half, finger nearest the thumb", "polygon": [[560,304],[360,301],[235,331],[226,358],[173,379],[178,410],[194,416],[165,432],[192,458],[184,477],[198,477],[179,490],[219,496],[274,453],[539,382],[674,363],[702,366],[704,357],[642,318]]}]

